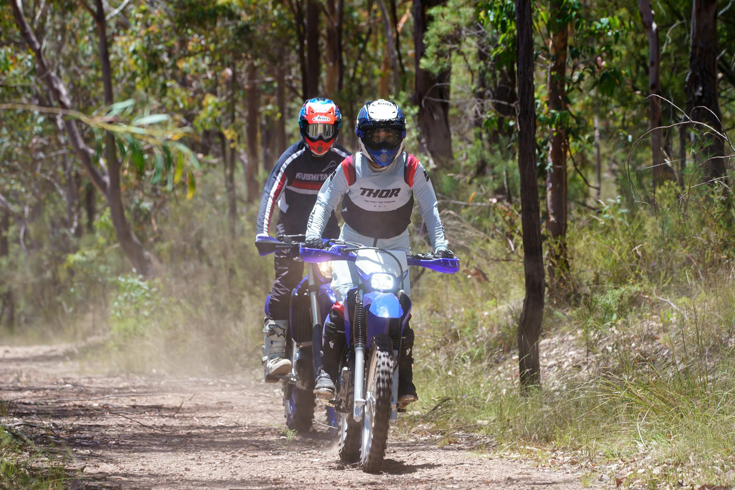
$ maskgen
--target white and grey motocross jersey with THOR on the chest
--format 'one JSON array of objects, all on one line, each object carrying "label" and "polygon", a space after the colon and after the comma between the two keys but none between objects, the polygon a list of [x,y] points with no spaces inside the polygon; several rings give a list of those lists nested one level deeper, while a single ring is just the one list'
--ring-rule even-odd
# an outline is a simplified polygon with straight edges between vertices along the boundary
[{"label": "white and grey motocross jersey with THOR on the chest", "polygon": [[341,210],[347,226],[374,239],[397,237],[411,223],[414,196],[434,251],[447,248],[437,195],[418,159],[404,151],[385,170],[374,170],[358,151],[345,158],[324,181],[309,216],[306,236],[321,236],[331,212],[343,198]]}]

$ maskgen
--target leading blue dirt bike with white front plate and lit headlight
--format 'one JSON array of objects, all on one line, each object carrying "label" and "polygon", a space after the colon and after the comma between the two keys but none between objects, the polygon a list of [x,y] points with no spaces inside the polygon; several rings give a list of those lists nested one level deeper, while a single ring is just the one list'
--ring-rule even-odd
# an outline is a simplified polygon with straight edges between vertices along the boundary
[{"label": "leading blue dirt bike with white front plate and lit headlight", "polygon": [[459,259],[441,259],[433,253],[408,255],[338,240],[329,240],[329,245],[326,250],[302,245],[299,255],[307,264],[354,262],[359,275],[359,284],[345,301],[348,349],[331,400],[339,419],[340,458],[359,462],[365,472],[377,472],[389,425],[398,416],[398,352],[411,311],[411,300],[404,294],[409,265],[456,273]]}]

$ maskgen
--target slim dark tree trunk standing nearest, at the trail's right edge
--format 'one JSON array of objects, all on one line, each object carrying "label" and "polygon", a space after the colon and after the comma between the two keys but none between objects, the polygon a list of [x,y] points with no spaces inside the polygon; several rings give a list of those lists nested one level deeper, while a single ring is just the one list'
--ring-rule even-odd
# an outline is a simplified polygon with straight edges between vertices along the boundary
[{"label": "slim dark tree trunk standing nearest, at the trail's right edge", "polygon": [[518,324],[518,368],[523,390],[541,384],[539,334],[544,314],[544,263],[541,251],[536,107],[534,103],[534,27],[531,0],[515,0],[518,67],[518,171],[523,227],[523,270],[526,298]]}]

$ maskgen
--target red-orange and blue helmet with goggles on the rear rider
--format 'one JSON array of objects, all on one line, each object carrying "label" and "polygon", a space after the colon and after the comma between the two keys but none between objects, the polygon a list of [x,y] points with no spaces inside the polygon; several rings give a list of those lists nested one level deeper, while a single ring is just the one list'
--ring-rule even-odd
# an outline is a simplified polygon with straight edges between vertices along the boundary
[{"label": "red-orange and blue helmet with goggles on the rear rider", "polygon": [[329,98],[309,98],[298,113],[301,138],[312,154],[322,156],[337,140],[342,126],[342,113]]}]

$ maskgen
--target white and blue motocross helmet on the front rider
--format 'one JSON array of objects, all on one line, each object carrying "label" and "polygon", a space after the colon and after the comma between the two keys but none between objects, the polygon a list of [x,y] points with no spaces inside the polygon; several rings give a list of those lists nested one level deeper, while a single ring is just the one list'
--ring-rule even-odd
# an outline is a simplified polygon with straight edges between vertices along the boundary
[{"label": "white and blue motocross helmet on the front rider", "polygon": [[404,151],[406,118],[393,101],[368,101],[357,114],[360,151],[378,167],[387,167]]}]

